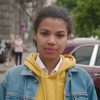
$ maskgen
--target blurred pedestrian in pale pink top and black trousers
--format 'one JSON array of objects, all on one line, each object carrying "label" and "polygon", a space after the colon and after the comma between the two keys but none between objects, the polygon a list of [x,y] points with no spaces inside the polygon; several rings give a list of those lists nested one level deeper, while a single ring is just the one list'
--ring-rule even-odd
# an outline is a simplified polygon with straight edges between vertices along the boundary
[{"label": "blurred pedestrian in pale pink top and black trousers", "polygon": [[23,40],[19,35],[16,35],[15,41],[14,41],[14,54],[15,54],[15,64],[21,65],[22,63],[22,56],[23,56]]}]

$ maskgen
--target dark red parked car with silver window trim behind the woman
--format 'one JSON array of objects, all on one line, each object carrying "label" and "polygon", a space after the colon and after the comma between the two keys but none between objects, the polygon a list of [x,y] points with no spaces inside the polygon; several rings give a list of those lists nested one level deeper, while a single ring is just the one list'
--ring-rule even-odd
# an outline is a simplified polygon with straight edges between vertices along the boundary
[{"label": "dark red parked car with silver window trim behind the woman", "polygon": [[84,68],[93,78],[100,100],[100,40],[79,38],[69,40],[63,54],[72,54],[76,65]]}]

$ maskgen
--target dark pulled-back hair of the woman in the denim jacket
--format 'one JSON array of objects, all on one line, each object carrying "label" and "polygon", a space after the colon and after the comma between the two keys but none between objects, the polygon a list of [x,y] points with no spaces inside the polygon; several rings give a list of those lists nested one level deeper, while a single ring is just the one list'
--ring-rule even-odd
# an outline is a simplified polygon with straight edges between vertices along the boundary
[{"label": "dark pulled-back hair of the woman in the denim jacket", "polygon": [[34,30],[35,33],[37,33],[39,24],[44,18],[52,17],[52,18],[60,18],[66,22],[66,28],[68,30],[68,35],[72,32],[72,22],[69,17],[68,11],[66,8],[61,6],[46,6],[40,9],[40,11],[37,13],[36,19],[34,20]]}]

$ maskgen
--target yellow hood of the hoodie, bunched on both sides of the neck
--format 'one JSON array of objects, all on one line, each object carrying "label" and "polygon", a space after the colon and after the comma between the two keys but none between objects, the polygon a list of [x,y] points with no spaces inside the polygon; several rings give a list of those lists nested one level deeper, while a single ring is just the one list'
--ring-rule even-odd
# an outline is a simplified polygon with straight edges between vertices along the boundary
[{"label": "yellow hood of the hoodie, bunched on both sides of the neck", "polygon": [[[38,77],[41,76],[41,68],[39,67],[39,65],[36,63],[36,57],[38,56],[38,54],[30,54],[27,59],[25,60],[24,64],[30,69],[32,70]],[[66,69],[69,69],[71,67],[74,66],[76,60],[72,55],[61,55],[60,57],[62,57],[62,63],[60,65],[60,68],[58,70],[58,72],[62,72]],[[43,74],[45,74],[44,72],[42,72]]]}]

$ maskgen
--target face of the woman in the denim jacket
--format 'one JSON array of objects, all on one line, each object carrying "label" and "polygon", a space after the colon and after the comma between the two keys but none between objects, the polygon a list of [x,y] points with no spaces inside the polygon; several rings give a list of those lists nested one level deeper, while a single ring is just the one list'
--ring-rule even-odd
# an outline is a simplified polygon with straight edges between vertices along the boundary
[{"label": "face of the woman in the denim jacket", "polygon": [[59,18],[44,18],[34,39],[41,59],[58,59],[65,48],[68,34],[66,23]]}]

